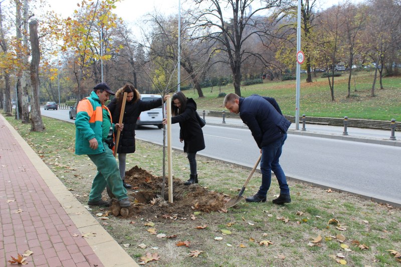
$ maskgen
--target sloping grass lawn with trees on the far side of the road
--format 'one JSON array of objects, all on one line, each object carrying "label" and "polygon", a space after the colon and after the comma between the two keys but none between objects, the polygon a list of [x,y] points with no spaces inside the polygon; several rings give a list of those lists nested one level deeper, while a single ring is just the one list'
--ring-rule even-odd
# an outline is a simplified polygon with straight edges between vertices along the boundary
[{"label": "sloping grass lawn with trees on the far side of the road", "polygon": [[[305,82],[306,76],[301,76],[300,115],[311,117],[344,118],[371,120],[401,120],[401,77],[383,78],[384,89],[376,83],[375,97],[370,96],[373,75],[369,72],[358,72],[353,76],[348,92],[348,72],[334,79],[334,101],[331,101],[327,78],[316,77],[313,83]],[[218,97],[219,87],[203,88],[205,98],[198,98],[194,90],[185,90],[186,97],[196,100],[198,110],[223,111],[223,98]],[[234,93],[232,85],[222,86],[221,92]],[[266,81],[263,84],[242,86],[243,97],[252,94],[276,98],[283,114],[295,115],[295,81]],[[226,110],[227,111],[227,110]]]}]

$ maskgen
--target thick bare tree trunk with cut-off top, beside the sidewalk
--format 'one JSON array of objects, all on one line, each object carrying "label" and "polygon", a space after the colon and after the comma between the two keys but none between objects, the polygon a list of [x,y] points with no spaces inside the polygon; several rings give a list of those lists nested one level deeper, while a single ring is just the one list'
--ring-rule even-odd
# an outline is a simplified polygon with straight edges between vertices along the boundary
[{"label": "thick bare tree trunk with cut-off top, beside the sidewalk", "polygon": [[37,21],[31,21],[29,23],[29,36],[32,49],[32,60],[30,66],[32,84],[31,132],[42,132],[45,128],[43,126],[39,105],[39,62],[41,53],[39,49]]}]

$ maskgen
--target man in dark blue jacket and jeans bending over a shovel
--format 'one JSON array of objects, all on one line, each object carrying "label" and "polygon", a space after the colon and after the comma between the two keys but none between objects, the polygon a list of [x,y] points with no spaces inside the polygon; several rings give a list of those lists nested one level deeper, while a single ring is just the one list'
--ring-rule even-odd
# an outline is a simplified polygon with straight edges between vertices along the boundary
[{"label": "man in dark blue jacket and jeans bending over a shovel", "polygon": [[290,189],[284,171],[279,164],[284,141],[287,139],[289,122],[281,113],[276,100],[271,97],[252,95],[247,98],[236,94],[228,94],[224,99],[224,106],[233,113],[240,113],[242,121],[251,130],[260,151],[262,159],[262,185],[259,191],[247,197],[248,202],[265,202],[267,191],[272,180],[272,170],[280,186],[280,196],[273,199],[275,204],[291,202]]}]

